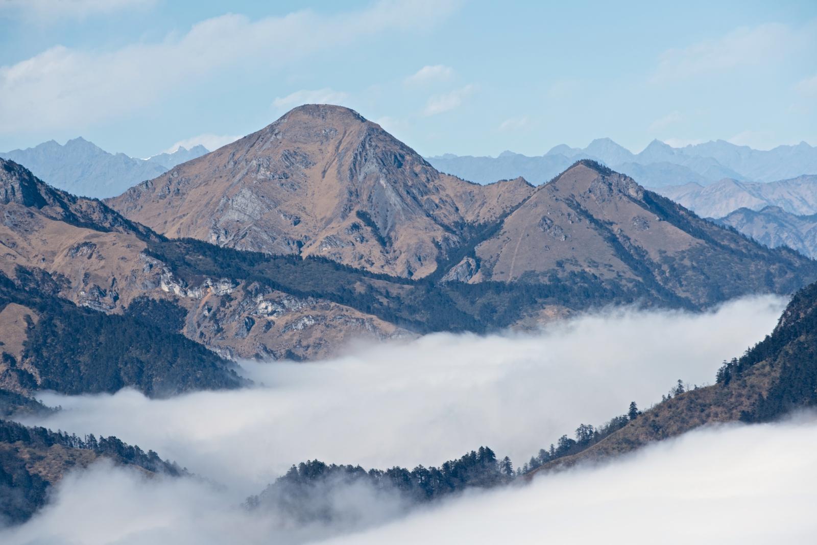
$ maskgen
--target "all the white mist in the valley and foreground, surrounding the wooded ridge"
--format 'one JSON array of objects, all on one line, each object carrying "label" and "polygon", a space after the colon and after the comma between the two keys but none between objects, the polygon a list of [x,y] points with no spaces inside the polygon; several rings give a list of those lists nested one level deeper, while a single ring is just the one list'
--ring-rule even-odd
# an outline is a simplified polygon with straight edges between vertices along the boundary
[{"label": "all the white mist in the valley and foreground, surrounding the wooded ridge", "polygon": [[[239,504],[292,463],[312,458],[412,468],[488,445],[520,464],[559,436],[572,435],[579,423],[603,423],[625,413],[631,400],[649,406],[679,378],[690,385],[711,382],[722,360],[770,333],[784,303],[778,297],[751,297],[704,314],[609,310],[535,334],[435,334],[359,347],[316,363],[243,362],[257,386],[167,400],[149,400],[135,391],[44,395],[47,404],[63,410],[25,423],[78,435],[115,435],[176,460],[200,478],[145,480],[136,471],[99,464],[67,477],[50,507],[0,535],[0,541],[302,543],[325,538],[338,529],[290,528],[274,514],[250,513]],[[588,532],[589,541],[596,521],[601,532],[636,513],[633,525],[655,532],[665,520],[663,506],[676,510],[676,525],[661,530],[674,539],[690,525],[715,525],[715,507],[757,507],[750,501],[754,495],[741,495],[739,482],[762,485],[769,479],[771,488],[758,489],[765,498],[760,504],[806,494],[774,485],[788,478],[779,475],[788,471],[784,467],[794,471],[802,465],[797,460],[808,458],[797,449],[815,446],[815,440],[802,444],[794,430],[815,437],[817,427],[809,420],[699,431],[607,467],[547,476],[519,489],[468,494],[408,518],[398,516],[404,512],[399,503],[357,490],[354,498],[337,498],[359,510],[352,517],[358,524],[342,530],[369,528],[370,534],[346,534],[350,543],[452,543],[469,528],[500,543],[508,543],[507,536],[542,543],[538,538],[546,535],[556,543],[583,543],[571,542],[566,532]],[[747,449],[749,442],[757,442],[757,449]],[[768,443],[779,444],[779,456],[794,467],[770,457],[771,447],[763,446]],[[815,471],[801,475],[807,480]],[[724,479],[729,482],[722,487],[702,486],[703,480]],[[670,511],[664,514],[669,517]],[[789,515],[799,520],[798,511]],[[723,520],[729,516],[735,511]],[[532,517],[530,526],[519,526],[525,517]],[[380,524],[387,520],[396,521]],[[545,526],[549,534],[534,531]]]}]

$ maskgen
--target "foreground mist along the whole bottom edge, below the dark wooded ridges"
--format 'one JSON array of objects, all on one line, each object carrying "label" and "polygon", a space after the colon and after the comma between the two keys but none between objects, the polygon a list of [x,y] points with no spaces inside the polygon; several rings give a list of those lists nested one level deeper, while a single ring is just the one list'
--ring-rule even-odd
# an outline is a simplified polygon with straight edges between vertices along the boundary
[{"label": "foreground mist along the whole bottom edge, below the dark wooded ridges", "polygon": [[[368,543],[814,543],[817,418],[692,431],[600,467],[467,494],[331,545]],[[381,506],[354,498],[376,522]],[[393,515],[386,513],[386,519]],[[212,485],[98,464],[0,543],[221,545],[319,542],[338,529],[281,529]]]}]

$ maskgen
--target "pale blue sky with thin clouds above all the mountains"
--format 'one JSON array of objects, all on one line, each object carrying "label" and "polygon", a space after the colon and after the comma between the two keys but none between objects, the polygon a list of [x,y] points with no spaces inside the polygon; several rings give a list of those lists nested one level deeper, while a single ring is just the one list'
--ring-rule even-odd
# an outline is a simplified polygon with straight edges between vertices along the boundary
[{"label": "pale blue sky with thin clouds above all the mountains", "polygon": [[426,155],[817,145],[817,2],[626,3],[0,0],[0,150],[212,148],[304,101]]}]

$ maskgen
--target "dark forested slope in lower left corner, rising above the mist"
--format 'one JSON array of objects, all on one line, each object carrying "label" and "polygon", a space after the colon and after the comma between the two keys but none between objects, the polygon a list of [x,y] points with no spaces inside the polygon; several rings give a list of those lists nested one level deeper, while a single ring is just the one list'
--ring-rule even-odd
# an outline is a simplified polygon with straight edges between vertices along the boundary
[{"label": "dark forested slope in lower left corner, rising above the mist", "polygon": [[98,459],[138,467],[145,476],[183,476],[187,472],[157,453],[114,436],[80,438],[43,427],[0,419],[0,525],[25,522],[47,503],[51,487],[69,471]]}]

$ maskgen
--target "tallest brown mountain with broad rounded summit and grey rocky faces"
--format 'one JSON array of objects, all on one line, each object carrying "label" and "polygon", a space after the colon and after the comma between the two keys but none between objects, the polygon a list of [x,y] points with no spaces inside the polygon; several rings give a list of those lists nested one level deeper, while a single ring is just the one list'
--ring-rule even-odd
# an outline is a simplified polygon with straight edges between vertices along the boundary
[{"label": "tallest brown mountain with broad rounded summit and grey rocky faces", "polygon": [[531,191],[440,174],[355,111],[306,105],[108,203],[171,237],[422,278],[466,224],[497,221]]}]

